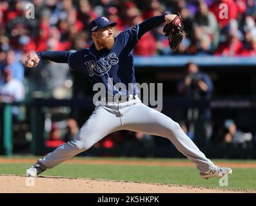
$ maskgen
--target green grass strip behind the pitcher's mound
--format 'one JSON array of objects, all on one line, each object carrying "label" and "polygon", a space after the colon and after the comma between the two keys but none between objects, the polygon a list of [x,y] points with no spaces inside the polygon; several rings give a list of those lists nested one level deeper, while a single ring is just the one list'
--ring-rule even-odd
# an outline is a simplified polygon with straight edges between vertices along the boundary
[{"label": "green grass strip behind the pitcher's mound", "polygon": [[[24,158],[24,157],[23,157]],[[36,158],[36,157],[32,157]],[[102,158],[87,158],[102,159]],[[155,158],[104,158],[108,160],[146,160]],[[157,159],[157,161],[184,161],[186,159]],[[256,161],[217,160],[218,162],[253,163]],[[30,164],[0,164],[0,174],[24,174]],[[197,185],[202,187],[221,187],[222,189],[256,190],[255,168],[233,168],[233,174],[228,178],[228,187],[219,186],[218,178],[204,180],[195,167],[171,167],[158,165],[81,165],[61,164],[54,169],[48,169],[43,175],[69,176],[79,178],[97,178],[107,180],[126,180],[132,182],[170,183],[177,185]]]}]

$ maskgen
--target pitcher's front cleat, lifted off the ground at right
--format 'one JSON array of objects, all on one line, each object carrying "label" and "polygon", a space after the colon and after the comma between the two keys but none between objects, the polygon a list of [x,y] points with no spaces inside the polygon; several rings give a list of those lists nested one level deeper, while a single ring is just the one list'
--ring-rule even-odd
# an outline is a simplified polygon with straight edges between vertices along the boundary
[{"label": "pitcher's front cleat, lifted off the ground at right", "polygon": [[208,178],[222,178],[223,176],[228,176],[229,174],[232,174],[232,169],[229,167],[219,167],[219,166],[213,166],[212,169],[209,169],[208,171],[200,173],[202,178],[208,179]]}]

